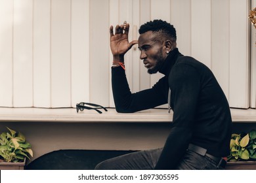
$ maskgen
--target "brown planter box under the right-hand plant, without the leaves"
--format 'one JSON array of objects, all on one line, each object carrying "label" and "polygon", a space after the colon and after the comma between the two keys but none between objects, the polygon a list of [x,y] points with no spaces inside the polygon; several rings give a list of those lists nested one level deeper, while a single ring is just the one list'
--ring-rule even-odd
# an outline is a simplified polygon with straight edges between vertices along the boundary
[{"label": "brown planter box under the right-hand plant, without the leaves", "polygon": [[256,170],[256,161],[229,161],[226,170]]}]

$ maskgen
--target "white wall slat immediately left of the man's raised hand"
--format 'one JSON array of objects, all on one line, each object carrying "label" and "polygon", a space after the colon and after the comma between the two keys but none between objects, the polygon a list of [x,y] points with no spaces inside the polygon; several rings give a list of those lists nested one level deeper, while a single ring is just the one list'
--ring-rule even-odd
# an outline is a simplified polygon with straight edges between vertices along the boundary
[{"label": "white wall slat immediately left of the man's raised hand", "polygon": [[[109,106],[109,1],[90,1],[90,101]],[[106,19],[105,19],[106,18]]]}]

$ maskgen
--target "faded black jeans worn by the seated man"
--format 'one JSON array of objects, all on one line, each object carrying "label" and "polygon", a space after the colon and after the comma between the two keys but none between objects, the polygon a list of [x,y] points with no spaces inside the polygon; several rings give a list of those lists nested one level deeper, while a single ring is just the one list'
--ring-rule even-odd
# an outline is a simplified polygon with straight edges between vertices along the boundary
[{"label": "faded black jeans worn by the seated man", "polygon": [[[142,150],[116,158],[107,159],[96,165],[96,170],[152,170],[158,162],[162,148]],[[175,158],[175,157],[174,157]],[[207,156],[201,156],[191,150],[186,150],[184,157],[177,165],[177,170],[217,170],[219,162]]]}]

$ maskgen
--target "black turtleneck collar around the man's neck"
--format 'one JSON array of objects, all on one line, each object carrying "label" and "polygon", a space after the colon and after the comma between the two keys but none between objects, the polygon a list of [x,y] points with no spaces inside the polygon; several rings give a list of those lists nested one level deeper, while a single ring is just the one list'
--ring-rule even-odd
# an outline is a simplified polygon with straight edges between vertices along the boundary
[{"label": "black turtleneck collar around the man's neck", "polygon": [[179,56],[182,56],[182,54],[179,52],[178,48],[174,48],[163,62],[159,72],[163,75],[169,75],[171,68]]}]

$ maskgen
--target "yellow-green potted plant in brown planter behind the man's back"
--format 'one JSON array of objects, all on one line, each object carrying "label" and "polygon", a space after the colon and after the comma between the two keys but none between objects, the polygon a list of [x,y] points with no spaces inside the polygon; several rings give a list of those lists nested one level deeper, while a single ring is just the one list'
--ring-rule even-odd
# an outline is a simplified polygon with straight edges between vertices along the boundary
[{"label": "yellow-green potted plant in brown planter behind the man's back", "polygon": [[256,130],[233,133],[226,169],[256,169]]}]

